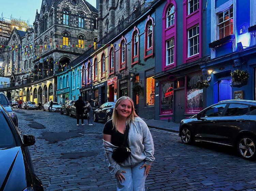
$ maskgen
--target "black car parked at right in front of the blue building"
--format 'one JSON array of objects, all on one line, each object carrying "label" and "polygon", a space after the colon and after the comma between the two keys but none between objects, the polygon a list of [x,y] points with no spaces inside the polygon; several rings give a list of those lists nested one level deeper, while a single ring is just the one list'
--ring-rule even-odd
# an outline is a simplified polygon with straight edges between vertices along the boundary
[{"label": "black car parked at right in front of the blue building", "polygon": [[241,157],[256,157],[256,101],[225,100],[180,123],[184,144],[195,140],[236,147]]}]

